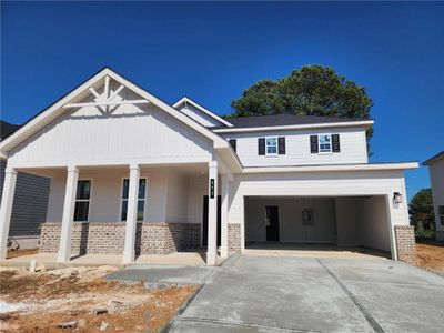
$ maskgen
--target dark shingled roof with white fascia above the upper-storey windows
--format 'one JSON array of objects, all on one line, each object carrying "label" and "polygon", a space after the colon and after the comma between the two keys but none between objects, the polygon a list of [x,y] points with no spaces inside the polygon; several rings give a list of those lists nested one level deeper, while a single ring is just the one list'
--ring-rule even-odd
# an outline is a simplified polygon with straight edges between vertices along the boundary
[{"label": "dark shingled roof with white fascia above the upper-storey windows", "polygon": [[374,123],[371,119],[342,118],[342,117],[321,117],[321,115],[296,115],[296,114],[271,114],[271,115],[250,115],[232,117],[228,120],[233,128],[213,128],[214,132],[251,132],[260,130],[291,130],[306,128],[326,127],[370,127]]}]

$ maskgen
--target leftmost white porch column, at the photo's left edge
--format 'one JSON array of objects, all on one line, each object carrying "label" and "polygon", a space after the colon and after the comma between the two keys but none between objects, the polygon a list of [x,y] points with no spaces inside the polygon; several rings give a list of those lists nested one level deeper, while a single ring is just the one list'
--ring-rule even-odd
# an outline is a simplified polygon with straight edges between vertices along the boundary
[{"label": "leftmost white porch column, at the photo's left edge", "polygon": [[1,196],[0,205],[0,260],[7,258],[8,234],[9,225],[11,224],[17,170],[7,168],[4,173],[3,194]]}]

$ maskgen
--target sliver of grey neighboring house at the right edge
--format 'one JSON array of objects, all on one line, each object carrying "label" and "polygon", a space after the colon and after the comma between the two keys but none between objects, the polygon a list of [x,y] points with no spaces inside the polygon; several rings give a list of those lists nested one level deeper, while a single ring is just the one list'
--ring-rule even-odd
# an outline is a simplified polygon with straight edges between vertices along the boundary
[{"label": "sliver of grey neighboring house at the right edge", "polygon": [[428,167],[433,208],[436,222],[436,240],[444,241],[444,151],[423,163]]}]

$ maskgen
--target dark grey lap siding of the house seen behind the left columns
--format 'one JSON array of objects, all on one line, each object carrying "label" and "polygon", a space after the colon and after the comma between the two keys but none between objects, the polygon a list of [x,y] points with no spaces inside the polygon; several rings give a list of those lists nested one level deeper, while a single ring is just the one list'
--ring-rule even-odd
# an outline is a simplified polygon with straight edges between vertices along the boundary
[{"label": "dark grey lap siding of the house seen behind the left columns", "polygon": [[[0,201],[3,193],[6,161],[0,160]],[[46,221],[51,180],[19,172],[12,205],[10,236],[40,234],[40,223]]]}]

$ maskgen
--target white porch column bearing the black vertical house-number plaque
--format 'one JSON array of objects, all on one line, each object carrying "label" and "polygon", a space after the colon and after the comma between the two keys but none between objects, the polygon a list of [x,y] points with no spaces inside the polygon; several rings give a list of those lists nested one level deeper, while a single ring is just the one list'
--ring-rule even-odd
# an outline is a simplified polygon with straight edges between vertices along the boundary
[{"label": "white porch column bearing the black vertical house-number plaque", "polygon": [[218,258],[218,162],[209,163],[209,216],[206,264],[215,265]]}]

